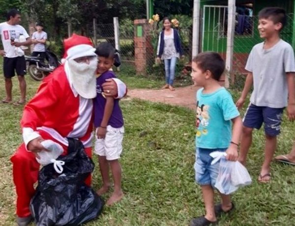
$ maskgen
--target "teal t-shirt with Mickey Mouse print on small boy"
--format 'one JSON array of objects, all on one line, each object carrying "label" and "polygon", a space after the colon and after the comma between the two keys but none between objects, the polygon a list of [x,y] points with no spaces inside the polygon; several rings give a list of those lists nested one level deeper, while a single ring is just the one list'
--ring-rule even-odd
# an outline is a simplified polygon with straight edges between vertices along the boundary
[{"label": "teal t-shirt with Mickey Mouse print on small boy", "polygon": [[239,116],[232,95],[221,87],[213,93],[197,91],[196,147],[227,148],[232,139],[231,119]]}]

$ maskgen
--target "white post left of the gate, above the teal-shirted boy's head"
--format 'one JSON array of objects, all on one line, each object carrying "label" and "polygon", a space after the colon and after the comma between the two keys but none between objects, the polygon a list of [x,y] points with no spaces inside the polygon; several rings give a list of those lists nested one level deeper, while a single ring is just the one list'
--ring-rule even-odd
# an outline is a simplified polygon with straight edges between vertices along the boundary
[{"label": "white post left of the gate, above the teal-shirted boy's head", "polygon": [[194,0],[192,58],[196,57],[197,54],[199,53],[199,43],[200,43],[200,0]]}]

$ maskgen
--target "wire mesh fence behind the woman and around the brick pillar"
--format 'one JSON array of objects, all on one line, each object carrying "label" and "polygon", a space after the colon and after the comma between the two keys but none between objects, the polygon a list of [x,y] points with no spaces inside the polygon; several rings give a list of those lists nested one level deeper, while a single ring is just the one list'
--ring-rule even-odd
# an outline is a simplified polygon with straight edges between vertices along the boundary
[{"label": "wire mesh fence behind the woman and around the brick pillar", "polygon": [[[176,78],[182,78],[183,76],[188,75],[189,72],[189,62],[192,52],[192,27],[179,27],[177,29],[181,38],[184,57],[177,62]],[[114,24],[97,24],[95,26],[96,35],[94,35],[93,25],[89,25],[88,30],[90,31],[90,36],[92,36],[94,43],[94,37],[96,36],[97,45],[100,42],[107,41],[115,46]],[[152,54],[147,56],[146,74],[149,76],[164,78],[164,64],[157,64],[155,62],[158,34],[160,31],[161,28],[157,28],[156,35],[155,31],[152,30],[150,31],[150,34],[148,34],[150,45],[147,45],[147,52]],[[136,59],[133,21],[119,21],[119,50],[121,58],[120,71],[126,72],[128,74],[135,74]]]}]

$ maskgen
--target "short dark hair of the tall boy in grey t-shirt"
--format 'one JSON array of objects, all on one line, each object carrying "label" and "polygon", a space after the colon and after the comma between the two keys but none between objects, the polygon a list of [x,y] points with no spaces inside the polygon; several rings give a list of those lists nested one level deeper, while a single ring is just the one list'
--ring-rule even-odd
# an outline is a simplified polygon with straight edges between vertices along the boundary
[{"label": "short dark hair of the tall boy in grey t-shirt", "polygon": [[283,8],[279,7],[266,7],[263,8],[259,13],[258,13],[259,19],[269,19],[272,20],[274,24],[281,23],[282,24],[282,29],[286,26],[287,24],[287,16],[286,16],[286,11]]}]

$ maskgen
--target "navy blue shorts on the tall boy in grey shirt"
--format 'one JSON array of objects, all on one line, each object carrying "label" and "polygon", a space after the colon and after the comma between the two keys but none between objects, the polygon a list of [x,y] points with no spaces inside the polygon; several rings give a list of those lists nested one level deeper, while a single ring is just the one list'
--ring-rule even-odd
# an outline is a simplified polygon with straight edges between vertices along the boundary
[{"label": "navy blue shorts on the tall boy in grey shirt", "polygon": [[259,107],[250,103],[243,118],[243,125],[259,130],[264,123],[266,135],[275,137],[281,132],[283,111],[284,108]]}]

